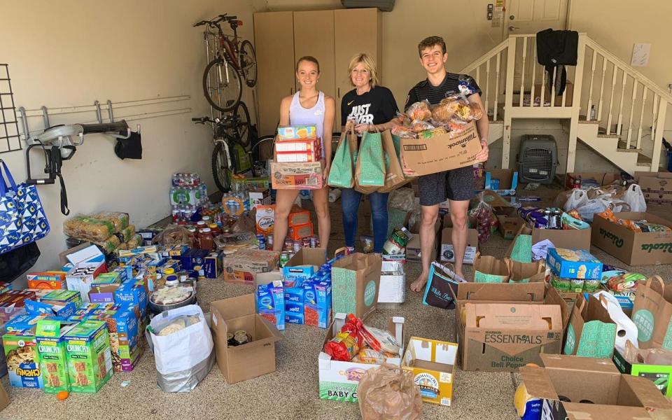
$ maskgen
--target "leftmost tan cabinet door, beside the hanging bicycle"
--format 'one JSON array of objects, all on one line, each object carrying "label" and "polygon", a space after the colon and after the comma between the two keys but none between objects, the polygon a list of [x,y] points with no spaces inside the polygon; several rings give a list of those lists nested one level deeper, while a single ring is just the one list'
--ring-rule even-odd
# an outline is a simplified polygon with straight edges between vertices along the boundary
[{"label": "leftmost tan cabinet door, beside the hanging bicycle", "polygon": [[259,135],[275,134],[280,101],[296,92],[292,12],[254,14]]}]

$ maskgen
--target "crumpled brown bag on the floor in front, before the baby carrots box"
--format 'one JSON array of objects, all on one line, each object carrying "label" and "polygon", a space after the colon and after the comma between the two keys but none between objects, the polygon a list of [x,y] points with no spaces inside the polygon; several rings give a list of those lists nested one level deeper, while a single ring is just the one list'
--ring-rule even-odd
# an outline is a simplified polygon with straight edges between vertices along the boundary
[{"label": "crumpled brown bag on the floor in front, before the baby carrots box", "polygon": [[367,370],[357,386],[359,410],[364,420],[419,419],[422,414],[420,387],[412,372],[383,363]]}]

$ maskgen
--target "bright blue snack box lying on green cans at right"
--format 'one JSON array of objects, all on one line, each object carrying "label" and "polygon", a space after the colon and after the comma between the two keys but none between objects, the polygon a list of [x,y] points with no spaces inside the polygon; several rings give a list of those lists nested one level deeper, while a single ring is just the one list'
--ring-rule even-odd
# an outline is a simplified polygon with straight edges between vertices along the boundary
[{"label": "bright blue snack box lying on green cans at right", "polygon": [[602,279],[602,262],[585,249],[549,248],[551,271],[568,279]]}]

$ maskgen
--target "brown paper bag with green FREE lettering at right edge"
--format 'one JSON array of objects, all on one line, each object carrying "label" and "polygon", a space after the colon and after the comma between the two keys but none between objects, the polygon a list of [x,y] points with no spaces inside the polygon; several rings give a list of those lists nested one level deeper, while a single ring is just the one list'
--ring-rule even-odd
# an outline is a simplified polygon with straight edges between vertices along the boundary
[{"label": "brown paper bag with green FREE lettering at right edge", "polygon": [[672,284],[659,276],[640,282],[632,309],[640,349],[672,350]]}]

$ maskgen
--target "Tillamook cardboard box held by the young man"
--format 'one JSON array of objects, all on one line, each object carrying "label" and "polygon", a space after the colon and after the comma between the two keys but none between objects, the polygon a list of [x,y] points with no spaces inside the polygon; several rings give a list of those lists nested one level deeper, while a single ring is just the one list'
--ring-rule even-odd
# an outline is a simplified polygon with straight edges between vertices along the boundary
[{"label": "Tillamook cardboard box held by the young man", "polygon": [[401,139],[405,165],[418,175],[435,174],[475,164],[481,151],[476,123],[458,136],[442,134],[431,139]]}]

